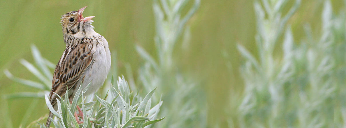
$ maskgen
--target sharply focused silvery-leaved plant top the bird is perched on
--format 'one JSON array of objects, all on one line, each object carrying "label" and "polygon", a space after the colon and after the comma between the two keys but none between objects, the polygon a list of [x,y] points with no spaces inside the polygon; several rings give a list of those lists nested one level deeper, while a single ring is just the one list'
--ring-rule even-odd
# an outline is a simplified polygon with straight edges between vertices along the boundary
[{"label": "sharply focused silvery-leaved plant top the bird is perched on", "polygon": [[[111,83],[113,83],[113,80]],[[45,95],[46,104],[56,117],[52,121],[54,126],[59,128],[143,128],[164,119],[164,117],[156,119],[162,101],[160,100],[157,105],[151,106],[151,97],[155,88],[142,99],[138,94],[130,92],[124,77],[118,78],[117,85],[117,87],[111,86],[109,91],[111,95],[107,93],[104,98],[95,95],[95,99],[90,102],[86,102],[83,96],[88,87],[84,90],[79,88],[72,104],[70,104],[67,97],[59,97],[60,99],[57,100],[57,111],[54,110],[49,102],[49,98]],[[107,102],[107,98],[110,98],[111,102]],[[84,115],[84,122],[80,125],[77,124],[73,115],[78,99],[81,100],[79,106],[81,106]],[[45,126],[40,124],[40,127]]]}]

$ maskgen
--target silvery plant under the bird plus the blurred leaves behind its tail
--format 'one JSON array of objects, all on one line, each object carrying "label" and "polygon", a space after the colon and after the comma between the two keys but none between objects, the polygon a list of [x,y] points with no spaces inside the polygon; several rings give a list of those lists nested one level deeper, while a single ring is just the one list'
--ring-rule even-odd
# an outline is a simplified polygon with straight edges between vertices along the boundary
[{"label": "silvery plant under the bird plus the blurred leaves behind its tail", "polygon": [[[6,95],[6,98],[45,98],[46,104],[49,110],[55,115],[55,119],[52,121],[55,127],[66,128],[66,127],[112,127],[112,128],[127,128],[135,127],[142,128],[148,127],[152,124],[164,119],[157,119],[157,114],[160,111],[162,100],[159,99],[158,104],[152,105],[152,95],[154,94],[155,88],[151,90],[143,99],[139,94],[130,92],[128,83],[125,78],[118,78],[117,83],[114,82],[113,76],[105,83],[110,86],[106,86],[108,92],[106,96],[100,98],[100,95],[84,97],[84,90],[78,89],[78,93],[74,96],[72,104],[69,102],[67,97],[60,97],[57,99],[58,110],[54,110],[49,102],[47,95],[51,88],[51,76],[50,69],[54,69],[54,64],[47,61],[41,56],[36,46],[32,45],[31,50],[35,58],[35,63],[38,68],[28,61],[21,59],[20,63],[25,66],[31,73],[33,73],[40,82],[35,82],[19,77],[13,76],[8,70],[5,70],[5,75],[11,80],[21,83],[23,85],[39,89],[39,92],[19,92],[15,94]],[[113,54],[112,62],[115,62],[115,54]],[[115,63],[112,65],[112,73],[116,72]],[[117,86],[113,86],[113,85]],[[68,91],[66,92],[68,93]],[[109,95],[111,94],[111,95]],[[34,110],[35,104],[38,100],[34,100],[33,103],[28,107],[27,112],[23,116],[21,126],[25,125],[26,121],[30,117],[31,111]],[[76,105],[79,105],[84,114],[84,123],[78,125],[74,118],[74,111]],[[45,122],[47,116],[44,116],[34,122],[31,122],[27,127],[45,127],[40,122]]]}]

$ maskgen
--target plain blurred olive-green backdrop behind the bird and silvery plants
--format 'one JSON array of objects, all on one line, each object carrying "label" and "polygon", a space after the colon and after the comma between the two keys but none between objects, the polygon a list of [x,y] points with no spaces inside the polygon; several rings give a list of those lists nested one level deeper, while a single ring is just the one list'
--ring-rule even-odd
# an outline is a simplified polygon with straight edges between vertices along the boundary
[{"label": "plain blurred olive-green backdrop behind the bird and silvery plants", "polygon": [[[289,19],[295,42],[304,37],[303,25],[309,23],[318,35],[321,25],[323,0],[303,0],[298,11]],[[190,1],[189,4],[192,4]],[[244,45],[251,53],[257,53],[255,45],[255,13],[253,0],[202,0],[198,11],[188,21],[191,39],[184,49],[181,41],[174,48],[174,61],[180,72],[191,75],[201,83],[206,92],[207,125],[227,127],[230,90],[242,92],[244,83],[239,67],[244,64],[236,44]],[[287,12],[294,1],[289,1]],[[343,8],[342,0],[331,0],[333,11]],[[117,52],[118,74],[124,74],[125,64],[130,64],[135,80],[143,61],[135,50],[140,45],[156,56],[154,35],[155,20],[153,1],[67,1],[67,0],[1,0],[0,1],[0,127],[19,127],[22,115],[32,98],[4,99],[6,94],[35,89],[8,79],[3,71],[8,69],[15,76],[37,80],[24,66],[20,58],[33,62],[30,45],[35,44],[43,57],[56,64],[65,49],[60,26],[62,14],[84,6],[84,17],[94,15],[95,31],[103,35],[110,50]],[[186,12],[186,11],[185,11]],[[278,46],[279,47],[279,46]],[[223,51],[228,51],[231,69]],[[280,51],[280,50],[279,50]],[[277,51],[275,51],[277,52]],[[52,71],[53,72],[53,71]],[[165,102],[165,101],[164,101]],[[164,108],[161,108],[164,109]],[[39,99],[30,122],[48,113],[44,99]],[[9,125],[10,124],[10,125]]]}]

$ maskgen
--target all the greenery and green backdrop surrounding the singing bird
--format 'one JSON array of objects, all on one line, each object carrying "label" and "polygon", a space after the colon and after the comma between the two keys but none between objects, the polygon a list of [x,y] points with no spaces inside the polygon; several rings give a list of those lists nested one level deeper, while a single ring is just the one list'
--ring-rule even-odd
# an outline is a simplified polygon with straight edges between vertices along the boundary
[{"label": "all the greenery and green backdrop surrounding the singing bird", "polygon": [[[44,127],[49,108],[53,127],[346,127],[345,0],[0,5],[0,127]],[[53,110],[59,18],[86,5],[111,71],[95,95],[79,89]]]}]

